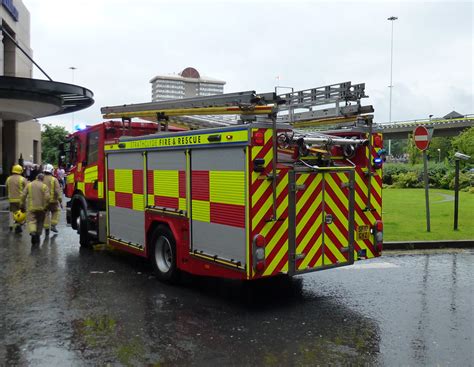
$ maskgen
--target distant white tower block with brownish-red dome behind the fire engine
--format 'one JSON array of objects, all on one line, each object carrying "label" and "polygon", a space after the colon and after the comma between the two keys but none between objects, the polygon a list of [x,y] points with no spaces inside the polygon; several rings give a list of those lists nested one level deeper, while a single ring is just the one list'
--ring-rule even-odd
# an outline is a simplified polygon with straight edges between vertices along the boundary
[{"label": "distant white tower block with brownish-red dome behind the fire engine", "polygon": [[201,76],[192,67],[177,75],[157,75],[150,83],[153,102],[222,94],[225,85],[225,81]]}]

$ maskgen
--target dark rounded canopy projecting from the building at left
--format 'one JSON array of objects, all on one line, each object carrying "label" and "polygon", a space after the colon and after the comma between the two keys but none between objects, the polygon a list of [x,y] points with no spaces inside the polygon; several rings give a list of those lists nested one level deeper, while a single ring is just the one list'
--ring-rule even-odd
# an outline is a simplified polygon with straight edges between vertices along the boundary
[{"label": "dark rounded canopy projecting from the building at left", "polygon": [[0,76],[0,119],[28,121],[83,110],[94,94],[78,85]]}]

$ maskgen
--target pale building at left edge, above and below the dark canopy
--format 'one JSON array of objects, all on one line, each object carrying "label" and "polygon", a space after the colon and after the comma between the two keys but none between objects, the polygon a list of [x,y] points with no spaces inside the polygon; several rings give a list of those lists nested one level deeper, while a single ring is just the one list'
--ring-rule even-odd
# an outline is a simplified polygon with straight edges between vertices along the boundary
[{"label": "pale building at left edge, above and below the dark canopy", "polygon": [[[13,37],[32,57],[28,9],[21,0],[0,0],[0,22],[0,76],[32,78],[31,61],[9,37]],[[20,155],[25,161],[41,161],[41,125],[36,120],[5,118],[12,103],[0,98],[0,177],[3,176],[3,179],[10,173],[11,166],[18,162]],[[0,178],[0,183],[3,179]]]}]

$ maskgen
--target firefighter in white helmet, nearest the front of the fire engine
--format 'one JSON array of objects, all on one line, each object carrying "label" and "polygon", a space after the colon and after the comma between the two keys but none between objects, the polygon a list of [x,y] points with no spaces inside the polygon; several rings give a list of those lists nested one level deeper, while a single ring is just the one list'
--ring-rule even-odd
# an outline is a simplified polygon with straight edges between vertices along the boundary
[{"label": "firefighter in white helmet, nearest the front of the fire engine", "polygon": [[58,233],[56,225],[59,222],[59,206],[63,207],[62,200],[63,195],[61,192],[61,185],[56,177],[53,176],[54,167],[52,164],[46,164],[44,166],[44,179],[43,182],[49,189],[49,203],[46,208],[46,217],[44,220],[44,229],[46,235],[49,235],[49,230],[54,233]]}]

